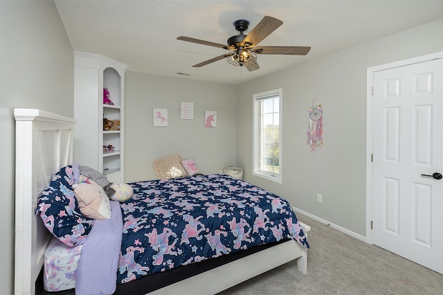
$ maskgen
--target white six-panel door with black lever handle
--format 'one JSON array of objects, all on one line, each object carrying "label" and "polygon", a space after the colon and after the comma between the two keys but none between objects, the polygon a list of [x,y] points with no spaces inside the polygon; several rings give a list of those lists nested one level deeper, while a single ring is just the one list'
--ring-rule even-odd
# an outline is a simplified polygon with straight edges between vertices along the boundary
[{"label": "white six-panel door with black lever handle", "polygon": [[424,176],[443,173],[442,72],[374,72],[372,242],[443,274],[443,180]]}]

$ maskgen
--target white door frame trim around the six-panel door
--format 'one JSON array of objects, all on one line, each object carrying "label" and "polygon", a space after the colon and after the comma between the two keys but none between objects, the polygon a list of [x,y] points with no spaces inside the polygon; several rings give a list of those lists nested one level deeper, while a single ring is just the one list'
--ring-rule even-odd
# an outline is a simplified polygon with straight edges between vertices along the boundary
[{"label": "white door frame trim around the six-panel door", "polygon": [[401,61],[395,61],[389,64],[381,64],[379,66],[372,66],[366,70],[366,242],[372,244],[372,199],[373,199],[373,169],[372,169],[372,143],[373,143],[373,120],[374,115],[372,101],[374,95],[372,88],[374,87],[374,73],[381,70],[388,70],[390,68],[399,68],[401,66],[408,66],[410,64],[419,64],[424,61],[443,58],[443,51],[431,53],[429,55],[422,55]]}]

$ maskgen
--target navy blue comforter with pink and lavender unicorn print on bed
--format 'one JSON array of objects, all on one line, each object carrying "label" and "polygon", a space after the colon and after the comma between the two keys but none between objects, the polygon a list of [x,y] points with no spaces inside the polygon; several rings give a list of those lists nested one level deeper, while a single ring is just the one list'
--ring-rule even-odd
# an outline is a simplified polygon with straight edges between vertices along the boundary
[{"label": "navy blue comforter with pink and lavender unicorn print on bed", "polygon": [[228,175],[131,183],[118,283],[282,238],[309,248],[289,203]]}]

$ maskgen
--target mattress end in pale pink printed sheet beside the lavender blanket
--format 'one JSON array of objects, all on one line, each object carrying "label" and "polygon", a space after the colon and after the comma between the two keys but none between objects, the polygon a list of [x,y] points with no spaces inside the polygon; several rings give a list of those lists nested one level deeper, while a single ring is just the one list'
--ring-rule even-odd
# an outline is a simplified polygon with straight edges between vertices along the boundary
[{"label": "mattress end in pale pink printed sheet beside the lavender blanket", "polygon": [[51,241],[44,251],[44,289],[58,292],[75,288],[78,260],[83,245],[69,247],[57,238]]}]

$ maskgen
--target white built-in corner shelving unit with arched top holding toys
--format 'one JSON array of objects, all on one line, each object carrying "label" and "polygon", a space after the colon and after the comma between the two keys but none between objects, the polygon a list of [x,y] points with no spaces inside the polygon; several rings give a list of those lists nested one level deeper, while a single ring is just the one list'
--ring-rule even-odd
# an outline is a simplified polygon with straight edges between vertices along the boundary
[{"label": "white built-in corner shelving unit with arched top holding toys", "polygon": [[[108,57],[74,52],[74,161],[124,182],[125,71],[127,65]],[[114,105],[103,104],[103,88]],[[119,130],[105,130],[104,118],[118,120]],[[113,146],[105,151],[103,146]]]}]

